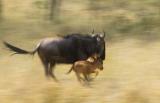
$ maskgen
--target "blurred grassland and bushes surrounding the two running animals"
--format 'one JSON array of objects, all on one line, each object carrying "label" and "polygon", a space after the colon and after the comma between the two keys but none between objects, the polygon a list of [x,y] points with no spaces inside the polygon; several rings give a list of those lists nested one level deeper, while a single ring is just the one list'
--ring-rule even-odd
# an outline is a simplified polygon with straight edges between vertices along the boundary
[{"label": "blurred grassland and bushes surrounding the two running animals", "polygon": [[[37,55],[10,56],[8,41],[32,50],[45,37],[106,31],[104,71],[81,86],[71,65],[48,80]],[[0,0],[1,103],[159,103],[159,0]]]}]

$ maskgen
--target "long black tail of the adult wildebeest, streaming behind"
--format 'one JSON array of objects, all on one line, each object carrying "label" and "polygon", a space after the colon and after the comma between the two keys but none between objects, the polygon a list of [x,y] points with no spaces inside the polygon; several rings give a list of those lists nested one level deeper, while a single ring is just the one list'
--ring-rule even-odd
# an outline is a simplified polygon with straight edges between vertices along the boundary
[{"label": "long black tail of the adult wildebeest, streaming behind", "polygon": [[4,41],[3,43],[4,43],[4,45],[5,45],[7,48],[9,48],[11,51],[14,51],[14,52],[15,52],[15,53],[13,53],[13,55],[14,55],[14,54],[32,54],[32,55],[34,55],[34,54],[36,53],[38,47],[39,47],[39,45],[37,45],[37,47],[36,47],[33,51],[27,51],[27,50],[24,50],[24,49],[15,47],[15,46],[13,46],[13,45],[5,42],[5,41]]}]

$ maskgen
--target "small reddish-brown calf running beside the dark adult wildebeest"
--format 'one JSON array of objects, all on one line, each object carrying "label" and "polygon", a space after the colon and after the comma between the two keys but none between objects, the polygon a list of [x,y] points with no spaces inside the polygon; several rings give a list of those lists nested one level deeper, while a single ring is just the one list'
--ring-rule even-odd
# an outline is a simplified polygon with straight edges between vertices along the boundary
[{"label": "small reddish-brown calf running beside the dark adult wildebeest", "polygon": [[[93,59],[93,61],[91,62],[90,59]],[[67,74],[73,70],[79,82],[81,82],[81,80],[89,81],[89,76],[91,73],[96,73],[96,76],[98,75],[97,69],[103,70],[103,62],[97,54],[94,54],[87,60],[76,61]],[[83,74],[85,79],[82,78],[80,74]]]}]

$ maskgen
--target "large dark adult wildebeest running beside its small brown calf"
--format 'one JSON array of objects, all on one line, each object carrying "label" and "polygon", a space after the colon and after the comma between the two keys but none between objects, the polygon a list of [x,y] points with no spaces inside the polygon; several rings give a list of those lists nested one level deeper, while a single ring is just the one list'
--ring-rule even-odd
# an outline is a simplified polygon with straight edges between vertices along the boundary
[{"label": "large dark adult wildebeest running beside its small brown calf", "polygon": [[15,54],[38,53],[45,69],[46,76],[56,80],[53,68],[56,63],[74,63],[85,60],[94,53],[105,59],[105,33],[92,35],[69,34],[59,38],[43,39],[33,51],[26,51],[7,42],[5,46]]}]

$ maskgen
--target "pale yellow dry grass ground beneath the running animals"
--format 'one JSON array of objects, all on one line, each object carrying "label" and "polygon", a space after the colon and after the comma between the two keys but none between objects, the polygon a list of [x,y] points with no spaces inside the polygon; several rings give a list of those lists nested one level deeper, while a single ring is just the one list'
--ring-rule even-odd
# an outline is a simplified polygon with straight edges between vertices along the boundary
[{"label": "pale yellow dry grass ground beneath the running animals", "polygon": [[[23,45],[23,44],[19,44]],[[2,46],[3,47],[3,46]],[[66,75],[71,65],[58,65],[60,83],[45,78],[37,55],[10,56],[1,48],[1,103],[159,103],[160,42],[134,39],[107,44],[104,71],[91,87]]]}]

